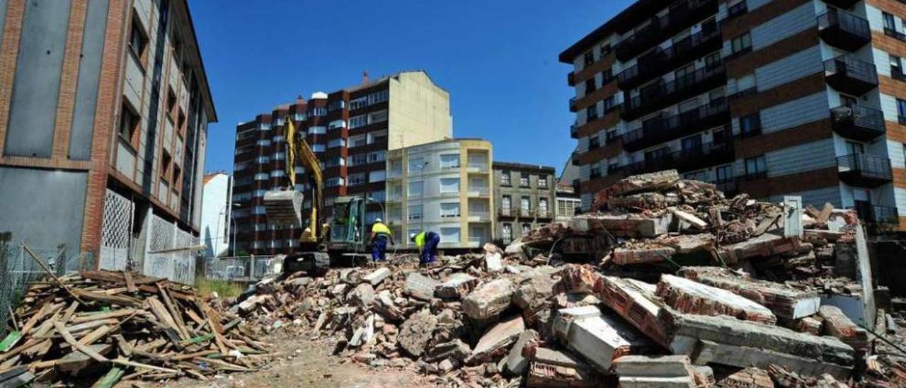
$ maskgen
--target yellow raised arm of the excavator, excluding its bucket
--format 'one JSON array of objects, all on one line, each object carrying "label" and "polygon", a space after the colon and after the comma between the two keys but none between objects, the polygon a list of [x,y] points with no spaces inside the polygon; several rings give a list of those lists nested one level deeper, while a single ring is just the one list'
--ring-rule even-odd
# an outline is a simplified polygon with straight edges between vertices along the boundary
[{"label": "yellow raised arm of the excavator, excluding its bucket", "polygon": [[302,234],[302,242],[311,243],[323,241],[326,237],[326,230],[323,230],[321,214],[324,208],[323,189],[324,179],[321,170],[321,162],[314,155],[312,147],[305,141],[304,134],[296,130],[293,120],[286,116],[286,174],[289,175],[289,181],[295,189],[295,165],[299,160],[309,177],[309,185],[312,188],[312,214],[309,217],[308,228]]}]

